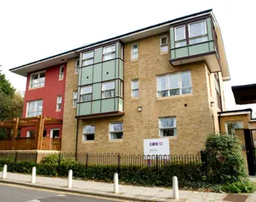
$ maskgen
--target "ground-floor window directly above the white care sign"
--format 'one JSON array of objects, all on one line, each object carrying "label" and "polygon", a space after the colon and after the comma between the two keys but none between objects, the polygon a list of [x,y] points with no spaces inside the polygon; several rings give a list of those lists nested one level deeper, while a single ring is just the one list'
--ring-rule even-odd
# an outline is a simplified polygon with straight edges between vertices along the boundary
[{"label": "ground-floor window directly above the white care sign", "polygon": [[165,117],[159,119],[160,137],[174,137],[176,131],[176,117]]}]

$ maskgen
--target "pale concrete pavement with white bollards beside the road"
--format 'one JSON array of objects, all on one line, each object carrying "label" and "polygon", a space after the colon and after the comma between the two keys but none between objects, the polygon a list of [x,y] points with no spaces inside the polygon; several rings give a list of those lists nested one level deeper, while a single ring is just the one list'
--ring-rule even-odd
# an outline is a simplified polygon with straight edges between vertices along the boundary
[{"label": "pale concrete pavement with white bollards beside the road", "polygon": [[[2,173],[0,177],[2,176]],[[139,187],[120,185],[119,194],[113,193],[113,183],[100,183],[93,181],[73,180],[73,188],[68,189],[67,179],[36,176],[36,184],[32,184],[31,175],[7,173],[7,179],[1,179],[0,183],[15,183],[31,187],[41,187],[55,191],[69,191],[94,196],[108,196],[120,200],[146,200],[146,201],[177,201],[173,200],[173,191],[164,187]],[[225,194],[198,191],[179,191],[179,201],[255,201],[254,194]]]}]

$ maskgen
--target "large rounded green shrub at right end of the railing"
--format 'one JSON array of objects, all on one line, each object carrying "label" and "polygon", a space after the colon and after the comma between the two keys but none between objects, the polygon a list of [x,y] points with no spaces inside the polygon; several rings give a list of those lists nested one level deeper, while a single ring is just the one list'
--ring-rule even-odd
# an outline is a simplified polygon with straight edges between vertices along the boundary
[{"label": "large rounded green shrub at right end of the railing", "polygon": [[234,183],[247,177],[240,141],[230,135],[213,134],[206,142],[207,177],[213,183]]}]

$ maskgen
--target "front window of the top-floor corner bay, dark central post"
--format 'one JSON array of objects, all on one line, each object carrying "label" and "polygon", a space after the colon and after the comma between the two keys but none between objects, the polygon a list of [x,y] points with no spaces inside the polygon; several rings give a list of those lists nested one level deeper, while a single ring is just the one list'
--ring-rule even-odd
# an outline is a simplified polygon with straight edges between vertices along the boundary
[{"label": "front window of the top-floor corner bay, dark central post", "polygon": [[[186,30],[188,29],[188,36]],[[188,44],[198,44],[208,40],[207,21],[201,20],[174,28],[175,48]]]}]

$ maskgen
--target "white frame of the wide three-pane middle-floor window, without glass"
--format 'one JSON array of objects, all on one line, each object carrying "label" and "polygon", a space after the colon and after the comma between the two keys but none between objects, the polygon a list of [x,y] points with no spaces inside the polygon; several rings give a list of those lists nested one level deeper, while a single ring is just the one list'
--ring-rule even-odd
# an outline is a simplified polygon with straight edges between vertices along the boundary
[{"label": "white frame of the wide three-pane middle-floor window, without glass", "polygon": [[[186,86],[186,87],[182,87],[182,81],[181,81],[181,74],[182,73],[190,73],[190,82],[191,82],[191,86]],[[178,88],[173,88],[173,89],[170,89],[169,88],[169,77],[172,76],[172,75],[177,75],[178,76]],[[168,91],[168,95],[167,96],[159,96],[159,92],[160,91],[166,91],[166,90],[158,90],[158,78],[161,78],[161,77],[166,77],[166,85],[167,85],[167,91]],[[186,89],[186,88],[191,88],[191,92],[190,93],[187,93],[187,94],[182,94],[182,89]],[[156,76],[156,96],[158,98],[161,98],[161,97],[173,97],[173,96],[177,96],[177,95],[170,95],[170,90],[175,90],[175,89],[179,89],[180,91],[180,94],[178,95],[190,95],[193,93],[193,84],[192,84],[192,75],[191,75],[191,71],[182,71],[182,72],[177,72],[177,73],[173,73],[173,74],[164,74],[164,75],[160,75],[160,76]]]}]

